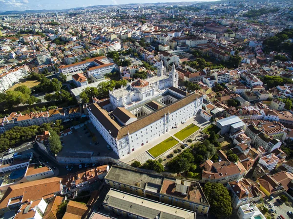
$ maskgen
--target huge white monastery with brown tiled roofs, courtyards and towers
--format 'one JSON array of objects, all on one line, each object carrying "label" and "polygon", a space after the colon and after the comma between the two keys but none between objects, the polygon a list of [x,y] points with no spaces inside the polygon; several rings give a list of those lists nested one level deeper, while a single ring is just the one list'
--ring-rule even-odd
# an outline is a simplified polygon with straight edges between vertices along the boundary
[{"label": "huge white monastery with brown tiled roofs, courtyards and towers", "polygon": [[173,65],[169,76],[136,80],[111,91],[107,112],[99,104],[88,108],[89,117],[113,151],[122,158],[201,111],[202,96],[177,88]]}]

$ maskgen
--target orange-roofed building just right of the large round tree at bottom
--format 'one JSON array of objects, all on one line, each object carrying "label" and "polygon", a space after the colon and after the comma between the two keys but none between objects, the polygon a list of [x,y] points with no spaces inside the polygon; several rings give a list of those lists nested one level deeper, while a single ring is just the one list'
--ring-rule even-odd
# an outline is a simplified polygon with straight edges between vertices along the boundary
[{"label": "orange-roofed building just right of the large round tree at bottom", "polygon": [[231,204],[234,209],[265,197],[257,183],[251,179],[231,181],[227,184],[227,188],[231,191]]}]

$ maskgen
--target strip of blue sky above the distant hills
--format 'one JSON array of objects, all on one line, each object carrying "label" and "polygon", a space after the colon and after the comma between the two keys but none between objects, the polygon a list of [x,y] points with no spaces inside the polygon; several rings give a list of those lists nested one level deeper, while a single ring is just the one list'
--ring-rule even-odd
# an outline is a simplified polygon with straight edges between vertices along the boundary
[{"label": "strip of blue sky above the distant hills", "polygon": [[[68,9],[102,4],[178,2],[180,0],[0,0],[0,11]],[[182,0],[181,0],[182,1]],[[194,0],[184,0],[194,1]],[[209,0],[201,0],[209,1]]]}]

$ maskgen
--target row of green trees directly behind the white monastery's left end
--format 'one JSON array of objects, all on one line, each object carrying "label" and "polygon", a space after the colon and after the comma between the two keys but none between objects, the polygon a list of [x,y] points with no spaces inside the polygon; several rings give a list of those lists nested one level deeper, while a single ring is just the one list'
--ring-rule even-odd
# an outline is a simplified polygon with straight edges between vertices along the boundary
[{"label": "row of green trees directly behind the white monastery's left end", "polygon": [[120,88],[126,86],[127,80],[109,80],[102,82],[98,87],[86,87],[80,94],[80,98],[83,102],[89,102],[93,97],[105,98],[109,94],[109,90],[112,91],[114,88]]}]

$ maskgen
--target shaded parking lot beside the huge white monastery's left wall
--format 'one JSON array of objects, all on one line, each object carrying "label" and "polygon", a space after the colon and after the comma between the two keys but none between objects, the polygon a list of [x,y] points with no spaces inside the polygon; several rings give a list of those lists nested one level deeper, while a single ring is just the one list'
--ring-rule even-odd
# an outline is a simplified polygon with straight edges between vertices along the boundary
[{"label": "shaded parking lot beside the huge white monastery's left wall", "polygon": [[[91,135],[92,133],[92,135]],[[92,156],[109,156],[117,159],[118,156],[109,150],[107,142],[100,135],[92,123],[87,124],[87,128],[81,127],[72,134],[63,137],[63,149],[58,154],[66,156],[72,153],[92,152]]]}]

